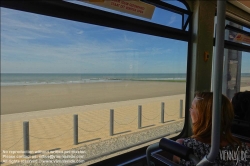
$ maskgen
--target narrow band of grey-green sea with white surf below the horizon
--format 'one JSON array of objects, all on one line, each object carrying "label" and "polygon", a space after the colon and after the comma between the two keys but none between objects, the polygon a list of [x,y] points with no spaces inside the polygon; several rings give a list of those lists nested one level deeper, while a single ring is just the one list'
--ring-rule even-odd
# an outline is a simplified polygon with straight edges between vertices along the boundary
[{"label": "narrow band of grey-green sea with white surf below the horizon", "polygon": [[2,73],[1,86],[114,82],[126,80],[185,80],[184,73],[168,74],[20,74]]}]

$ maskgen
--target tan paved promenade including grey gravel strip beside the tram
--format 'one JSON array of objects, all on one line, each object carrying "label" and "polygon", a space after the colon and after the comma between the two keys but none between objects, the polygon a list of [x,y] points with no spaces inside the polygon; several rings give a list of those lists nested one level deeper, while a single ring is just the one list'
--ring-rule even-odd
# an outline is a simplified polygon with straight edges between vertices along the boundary
[{"label": "tan paved promenade including grey gravel strip beside the tram", "polygon": [[[249,88],[249,86],[242,87],[241,91]],[[84,156],[87,162],[82,165],[89,165],[139,146],[157,142],[154,138],[161,138],[167,134],[173,137],[184,125],[184,111],[183,118],[180,118],[181,100],[184,110],[185,95],[181,94],[1,115],[1,165],[11,165],[15,163],[14,161],[15,165],[22,165],[18,162],[25,159],[26,161],[38,159],[40,162],[44,158],[41,159],[39,156],[48,156],[49,151],[70,152],[72,149],[78,152],[84,151],[85,154],[80,156]],[[165,105],[164,123],[161,123],[162,102]],[[138,129],[139,105],[142,107],[140,129]],[[110,136],[110,109],[114,110],[113,136]],[[73,116],[76,114],[78,144],[74,145]],[[31,151],[29,158],[24,158],[22,152],[23,122],[29,122]],[[23,165],[44,165],[39,162]]]}]

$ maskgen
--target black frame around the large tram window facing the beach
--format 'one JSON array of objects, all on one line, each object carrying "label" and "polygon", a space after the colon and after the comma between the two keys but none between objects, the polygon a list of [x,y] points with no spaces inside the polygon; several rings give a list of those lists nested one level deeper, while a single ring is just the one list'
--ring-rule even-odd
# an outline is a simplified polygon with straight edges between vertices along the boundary
[{"label": "black frame around the large tram window facing the beach", "polygon": [[[81,6],[66,2],[63,0],[1,0],[1,7],[20,10],[25,12],[31,12],[35,14],[41,14],[45,16],[52,16],[56,18],[62,18],[72,21],[78,21],[83,23],[89,23],[94,25],[100,25],[105,27],[111,27],[121,30],[128,30],[153,36],[159,36],[164,38],[170,38],[175,40],[181,40],[188,42],[187,50],[187,77],[186,77],[186,101],[189,101],[191,80],[191,40],[192,40],[192,12],[185,0],[178,0],[183,3],[187,10],[164,3],[161,0],[142,0],[146,3],[155,5],[156,7],[172,11],[177,14],[182,15],[182,29],[176,29],[164,25],[159,25],[156,23],[151,23],[143,20],[138,20],[135,18],[122,16],[110,12],[106,12],[99,9],[93,9],[86,6]],[[187,16],[184,19],[184,16]],[[187,26],[189,25],[188,30]],[[187,133],[189,124],[189,106],[186,102],[185,104],[185,122],[182,132],[179,136],[173,137],[171,139],[176,139],[181,135]],[[145,160],[145,152],[147,147],[139,148],[132,152],[113,157],[101,161],[92,166],[101,165],[116,165],[123,162],[133,161],[133,160]],[[143,159],[144,158],[144,159]]]}]

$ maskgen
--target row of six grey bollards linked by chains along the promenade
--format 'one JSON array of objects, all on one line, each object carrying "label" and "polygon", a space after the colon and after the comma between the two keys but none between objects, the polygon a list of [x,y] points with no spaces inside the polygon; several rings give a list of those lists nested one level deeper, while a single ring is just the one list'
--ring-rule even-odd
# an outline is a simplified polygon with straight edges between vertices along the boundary
[{"label": "row of six grey bollards linked by chains along the promenade", "polygon": [[[164,102],[161,103],[161,123],[164,123]],[[180,115],[179,118],[183,118],[183,100],[180,100]],[[78,115],[73,116],[73,141],[74,145],[78,144]],[[110,109],[110,127],[109,135],[114,135],[114,109]],[[142,106],[138,106],[138,129],[142,128]],[[23,143],[24,143],[24,155],[29,155],[30,142],[29,142],[29,122],[23,122]]]}]

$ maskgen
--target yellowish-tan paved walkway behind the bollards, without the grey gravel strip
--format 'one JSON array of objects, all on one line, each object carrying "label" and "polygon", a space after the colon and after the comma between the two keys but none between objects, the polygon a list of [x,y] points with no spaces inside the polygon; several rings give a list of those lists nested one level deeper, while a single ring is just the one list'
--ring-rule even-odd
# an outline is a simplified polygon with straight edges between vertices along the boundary
[{"label": "yellowish-tan paved walkway behind the bollards, without the grey gravel strip", "polygon": [[[29,122],[30,151],[33,155],[38,151],[66,151],[119,135],[167,125],[179,119],[181,99],[184,100],[184,95],[2,115],[1,162],[5,160],[2,164],[10,165],[13,159],[23,160],[24,121]],[[165,104],[165,123],[161,123],[162,102]],[[185,100],[183,107],[184,103]],[[141,129],[138,129],[139,105],[142,107]],[[114,109],[114,136],[110,136],[110,109]],[[73,144],[75,114],[78,115],[78,145]],[[13,152],[17,153],[11,154]]]}]

